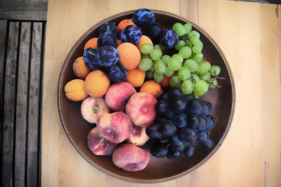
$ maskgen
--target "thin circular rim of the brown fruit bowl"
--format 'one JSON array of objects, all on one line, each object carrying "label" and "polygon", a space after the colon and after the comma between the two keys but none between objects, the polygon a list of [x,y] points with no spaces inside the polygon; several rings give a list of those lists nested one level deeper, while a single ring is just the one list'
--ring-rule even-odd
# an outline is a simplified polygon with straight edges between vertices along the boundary
[{"label": "thin circular rim of the brown fruit bowl", "polygon": [[216,43],[216,41],[214,41],[214,39],[212,39],[211,36],[206,31],[204,31],[204,29],[202,29],[198,25],[195,25],[193,22],[190,22],[189,20],[187,20],[185,18],[182,18],[180,15],[176,15],[175,13],[170,13],[170,12],[167,12],[167,11],[161,11],[161,10],[157,10],[157,9],[150,9],[150,11],[152,11],[153,13],[169,15],[169,16],[174,17],[174,18],[176,18],[178,20],[181,20],[183,22],[189,22],[192,25],[192,27],[195,27],[202,34],[204,34],[207,37],[207,39],[209,39],[209,41],[211,41],[211,43],[215,46],[216,50],[218,50],[218,53],[221,55],[221,57],[223,59],[223,62],[226,64],[226,69],[227,69],[228,74],[230,76],[230,85],[231,85],[231,88],[233,90],[233,92],[232,92],[232,107],[231,107],[231,110],[230,110],[230,117],[228,119],[228,125],[226,126],[226,131],[223,133],[223,136],[221,137],[220,141],[218,141],[218,144],[216,145],[214,150],[211,151],[209,153],[209,155],[207,155],[206,158],[204,158],[203,160],[198,162],[197,165],[191,167],[190,169],[186,170],[185,172],[181,172],[181,173],[176,174],[174,176],[168,176],[168,177],[164,177],[164,178],[161,178],[161,179],[133,179],[133,178],[129,178],[129,177],[126,177],[126,176],[121,176],[121,175],[115,174],[113,172],[110,172],[107,169],[104,169],[103,167],[100,167],[98,164],[96,164],[96,162],[93,162],[93,160],[91,160],[89,157],[87,157],[84,154],[84,152],[79,148],[79,146],[77,146],[77,144],[75,143],[74,139],[72,139],[72,137],[70,135],[70,132],[68,130],[67,124],[65,123],[66,120],[63,117],[62,101],[60,99],[62,97],[61,89],[63,88],[63,74],[65,74],[66,67],[67,67],[67,63],[66,62],[70,60],[70,57],[73,55],[74,51],[77,50],[76,46],[79,46],[81,41],[86,36],[91,34],[91,32],[93,32],[93,28],[94,27],[100,27],[104,22],[107,22],[108,20],[111,20],[112,18],[117,18],[117,17],[122,16],[122,15],[133,14],[136,10],[137,9],[131,10],[131,11],[124,11],[124,12],[121,12],[121,13],[117,13],[115,15],[111,15],[111,16],[103,19],[103,20],[100,20],[100,22],[97,22],[95,25],[93,25],[93,27],[88,29],[74,43],[74,45],[72,46],[70,52],[67,54],[67,57],[65,58],[65,61],[63,62],[63,67],[62,67],[62,69],[60,71],[60,77],[59,77],[59,80],[58,80],[58,92],[57,92],[58,112],[59,112],[59,116],[60,116],[60,121],[61,121],[61,123],[63,125],[63,129],[65,130],[65,133],[67,134],[67,137],[70,140],[72,146],[74,146],[74,148],[81,155],[82,158],[84,158],[87,162],[89,162],[91,165],[93,165],[93,167],[96,167],[96,169],[98,169],[100,172],[103,172],[104,174],[112,176],[115,179],[121,179],[123,181],[128,181],[128,182],[133,182],[133,183],[159,183],[159,182],[171,181],[173,179],[177,179],[177,178],[179,178],[181,176],[184,176],[185,174],[188,174],[188,173],[192,172],[193,170],[197,169],[198,167],[203,165],[204,162],[207,162],[207,160],[209,160],[209,158],[211,158],[212,155],[214,155],[214,153],[216,153],[216,151],[218,151],[218,148],[221,147],[221,144],[223,143],[224,139],[226,139],[226,136],[227,136],[227,134],[228,134],[228,132],[230,130],[231,123],[233,121],[234,111],[235,111],[235,97],[236,97],[235,83],[234,83],[234,78],[233,78],[232,71],[230,69],[230,65],[228,64],[228,60],[226,59],[226,56],[223,54],[223,51],[221,50],[221,48],[219,48],[219,46]]}]

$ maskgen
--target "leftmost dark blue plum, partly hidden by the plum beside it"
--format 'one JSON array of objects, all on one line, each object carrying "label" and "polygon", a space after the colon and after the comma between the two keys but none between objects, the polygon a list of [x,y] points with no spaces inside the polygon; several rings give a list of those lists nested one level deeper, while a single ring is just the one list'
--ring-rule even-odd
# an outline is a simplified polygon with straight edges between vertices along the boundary
[{"label": "leftmost dark blue plum, partly hidden by the plum beside it", "polygon": [[88,67],[91,70],[96,70],[100,68],[100,65],[98,65],[98,59],[97,59],[97,53],[98,50],[96,48],[86,48],[83,53],[83,60],[86,64],[86,67]]}]

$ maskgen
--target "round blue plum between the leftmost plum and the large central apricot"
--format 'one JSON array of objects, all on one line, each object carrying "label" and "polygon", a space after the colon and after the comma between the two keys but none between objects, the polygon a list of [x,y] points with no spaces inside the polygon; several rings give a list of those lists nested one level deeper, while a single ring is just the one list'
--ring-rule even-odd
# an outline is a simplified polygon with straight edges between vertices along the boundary
[{"label": "round blue plum between the leftmost plum and the large central apricot", "polygon": [[101,67],[112,67],[117,64],[119,53],[112,46],[103,46],[98,49],[97,58]]}]

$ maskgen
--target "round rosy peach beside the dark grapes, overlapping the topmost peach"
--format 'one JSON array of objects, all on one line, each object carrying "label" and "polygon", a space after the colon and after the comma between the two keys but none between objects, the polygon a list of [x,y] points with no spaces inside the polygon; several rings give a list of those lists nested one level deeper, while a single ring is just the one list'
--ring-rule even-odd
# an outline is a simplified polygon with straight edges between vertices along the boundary
[{"label": "round rosy peach beside the dark grapes, overlapping the topmost peach", "polygon": [[126,104],[126,114],[133,124],[147,127],[156,118],[155,104],[157,99],[148,93],[138,92],[131,96]]}]

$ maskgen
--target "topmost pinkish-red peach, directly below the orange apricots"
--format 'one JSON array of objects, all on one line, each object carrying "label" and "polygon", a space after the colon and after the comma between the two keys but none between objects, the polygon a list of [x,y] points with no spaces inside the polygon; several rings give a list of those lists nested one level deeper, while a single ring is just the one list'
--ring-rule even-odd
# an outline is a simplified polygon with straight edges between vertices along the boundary
[{"label": "topmost pinkish-red peach, directly below the orange apricots", "polygon": [[128,99],[136,93],[130,83],[115,83],[108,88],[105,94],[105,103],[112,111],[124,111]]}]

